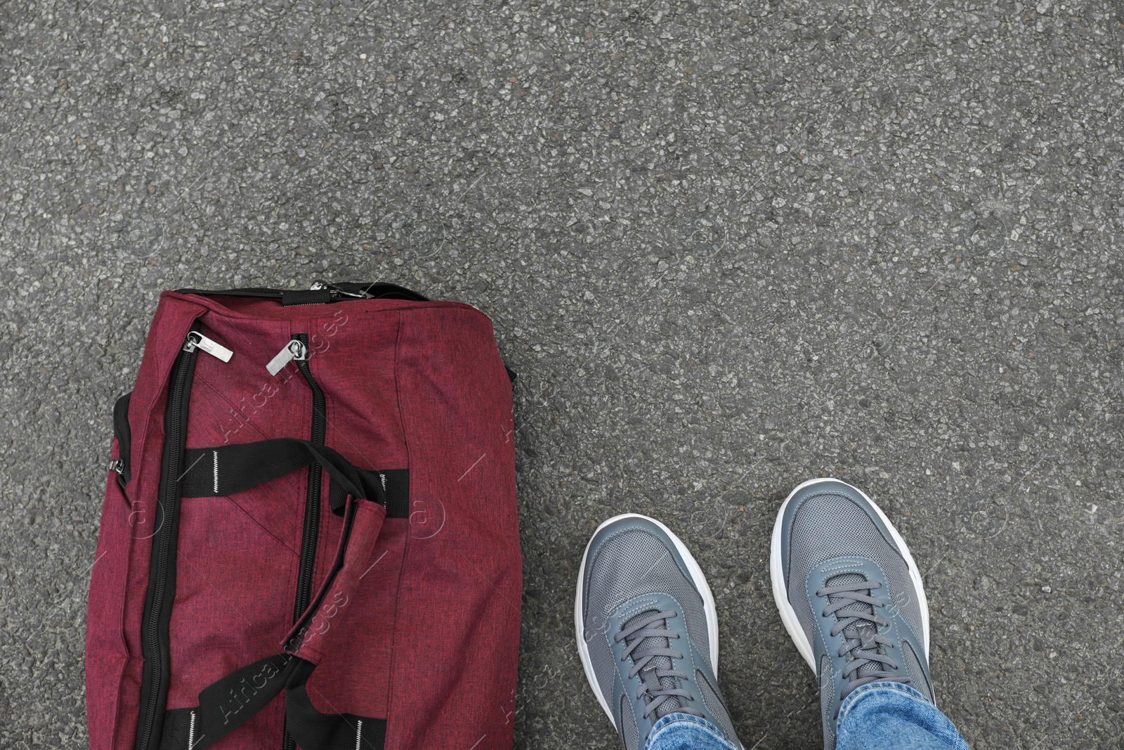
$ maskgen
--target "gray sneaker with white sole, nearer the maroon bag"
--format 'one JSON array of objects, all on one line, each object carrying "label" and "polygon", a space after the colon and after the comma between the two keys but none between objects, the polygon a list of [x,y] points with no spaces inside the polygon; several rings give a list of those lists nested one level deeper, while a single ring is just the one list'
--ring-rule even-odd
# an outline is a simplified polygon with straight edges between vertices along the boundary
[{"label": "gray sneaker with white sole, nearer the maroon bag", "polygon": [[659,521],[626,514],[586,546],[574,600],[578,652],[626,750],[672,713],[741,747],[718,690],[718,616],[699,564]]}]

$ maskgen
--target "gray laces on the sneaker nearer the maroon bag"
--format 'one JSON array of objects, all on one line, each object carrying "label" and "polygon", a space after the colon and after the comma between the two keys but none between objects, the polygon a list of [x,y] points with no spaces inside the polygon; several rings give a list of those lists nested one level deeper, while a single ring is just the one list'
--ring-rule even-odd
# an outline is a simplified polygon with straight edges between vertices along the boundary
[{"label": "gray laces on the sneaker nearer the maroon bag", "polygon": [[680,687],[681,679],[687,679],[687,675],[673,668],[672,659],[682,659],[681,651],[671,648],[670,639],[678,639],[679,633],[668,630],[668,620],[678,617],[679,613],[673,609],[664,612],[641,613],[629,620],[614,635],[617,642],[624,641],[627,648],[622,661],[633,660],[633,668],[628,672],[628,678],[633,679],[638,674],[641,676],[641,688],[636,693],[636,698],[644,698],[646,707],[644,717],[655,713],[656,719],[662,719],[670,713],[691,714],[703,716],[703,714],[687,705],[688,701],[694,701],[691,694]]}]

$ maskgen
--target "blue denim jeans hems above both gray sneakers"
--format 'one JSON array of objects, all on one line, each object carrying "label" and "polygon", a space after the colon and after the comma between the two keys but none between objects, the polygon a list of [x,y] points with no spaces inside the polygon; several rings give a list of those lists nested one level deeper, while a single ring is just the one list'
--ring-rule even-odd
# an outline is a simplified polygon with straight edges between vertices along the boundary
[{"label": "blue denim jeans hems above both gray sneakers", "polygon": [[[968,750],[952,722],[921,693],[899,683],[870,683],[840,706],[835,750]],[[645,750],[741,750],[697,716],[668,714]]]}]

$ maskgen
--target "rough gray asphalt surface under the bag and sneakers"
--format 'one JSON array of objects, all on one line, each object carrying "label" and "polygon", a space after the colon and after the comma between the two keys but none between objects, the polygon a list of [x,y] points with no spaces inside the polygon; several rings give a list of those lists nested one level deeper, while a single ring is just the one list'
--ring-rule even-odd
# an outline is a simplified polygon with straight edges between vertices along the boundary
[{"label": "rough gray asphalt surface under the bag and sneakers", "polygon": [[158,292],[327,278],[519,372],[518,748],[618,747],[572,593],[626,510],[708,573],[745,747],[816,747],[767,551],[823,475],[910,543],[973,748],[1121,747],[1124,15],[839,4],[0,3],[0,746],[85,746]]}]

